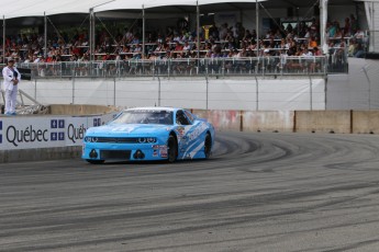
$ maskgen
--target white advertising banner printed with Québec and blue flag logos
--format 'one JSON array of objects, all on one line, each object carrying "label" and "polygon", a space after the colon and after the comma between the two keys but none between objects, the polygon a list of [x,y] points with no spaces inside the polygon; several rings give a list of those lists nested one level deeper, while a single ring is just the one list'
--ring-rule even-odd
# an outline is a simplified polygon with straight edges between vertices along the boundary
[{"label": "white advertising banner printed with Qu\u00e9bec and blue flag logos", "polygon": [[89,127],[103,125],[114,115],[0,117],[0,150],[81,146]]}]

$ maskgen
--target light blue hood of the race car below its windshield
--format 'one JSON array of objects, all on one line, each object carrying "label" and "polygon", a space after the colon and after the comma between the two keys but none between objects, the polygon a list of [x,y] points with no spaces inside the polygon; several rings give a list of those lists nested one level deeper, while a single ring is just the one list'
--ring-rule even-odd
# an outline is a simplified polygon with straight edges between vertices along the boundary
[{"label": "light blue hood of the race car below its windshield", "polygon": [[153,136],[169,131],[172,126],[158,124],[108,124],[100,127],[91,127],[87,136]]}]

